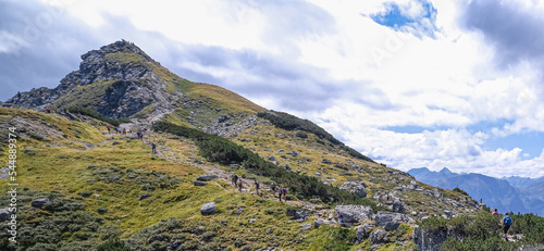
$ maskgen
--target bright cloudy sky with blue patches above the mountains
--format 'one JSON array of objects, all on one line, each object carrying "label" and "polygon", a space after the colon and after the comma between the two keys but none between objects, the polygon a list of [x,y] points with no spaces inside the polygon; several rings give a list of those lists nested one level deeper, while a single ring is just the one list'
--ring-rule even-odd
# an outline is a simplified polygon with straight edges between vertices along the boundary
[{"label": "bright cloudy sky with blue patches above the mountains", "polygon": [[120,39],[388,166],[544,175],[542,1],[0,0],[0,100]]}]

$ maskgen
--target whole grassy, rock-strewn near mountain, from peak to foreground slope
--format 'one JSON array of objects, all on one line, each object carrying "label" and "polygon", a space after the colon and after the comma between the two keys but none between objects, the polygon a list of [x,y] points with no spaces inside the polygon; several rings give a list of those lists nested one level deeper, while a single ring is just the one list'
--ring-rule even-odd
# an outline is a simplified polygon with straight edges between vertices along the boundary
[{"label": "whole grassy, rock-strewn near mountain, from peak to foreground slope", "polygon": [[0,187],[18,187],[16,205],[0,194],[0,250],[522,250],[544,242],[541,217],[514,215],[515,241],[504,241],[498,218],[467,192],[376,163],[308,120],[184,79],[132,42],[82,60],[57,88],[1,104],[0,163],[16,147],[17,164],[0,166]]}]

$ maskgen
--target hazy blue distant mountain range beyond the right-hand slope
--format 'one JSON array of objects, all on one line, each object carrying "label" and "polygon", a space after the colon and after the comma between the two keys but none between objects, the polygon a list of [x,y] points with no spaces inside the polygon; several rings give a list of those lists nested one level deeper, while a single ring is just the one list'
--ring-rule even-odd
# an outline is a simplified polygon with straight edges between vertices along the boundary
[{"label": "hazy blue distant mountain range beyond the right-hand slope", "polygon": [[426,167],[408,171],[416,179],[445,189],[456,187],[474,200],[482,200],[499,212],[534,213],[544,215],[544,177],[494,178],[482,174],[456,174],[444,167],[440,172]]}]

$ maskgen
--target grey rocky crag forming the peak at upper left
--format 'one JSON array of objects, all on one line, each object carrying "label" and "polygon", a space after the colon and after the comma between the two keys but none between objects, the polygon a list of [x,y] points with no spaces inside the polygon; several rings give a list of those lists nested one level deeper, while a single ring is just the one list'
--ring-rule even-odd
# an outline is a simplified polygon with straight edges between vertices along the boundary
[{"label": "grey rocky crag forming the peak at upper left", "polygon": [[[147,116],[170,112],[182,96],[166,91],[169,81],[182,79],[128,41],[91,50],[82,60],[79,70],[66,75],[57,88],[20,92],[2,106],[33,110],[78,106],[119,118],[139,112]],[[149,111],[143,111],[148,106]]]}]

